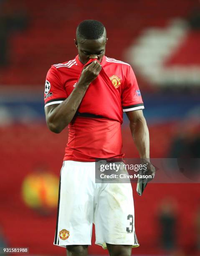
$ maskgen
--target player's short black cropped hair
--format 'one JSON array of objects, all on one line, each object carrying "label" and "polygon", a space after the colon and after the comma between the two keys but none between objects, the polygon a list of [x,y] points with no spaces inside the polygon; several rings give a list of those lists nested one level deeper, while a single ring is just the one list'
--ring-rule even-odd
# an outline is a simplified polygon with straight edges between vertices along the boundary
[{"label": "player's short black cropped hair", "polygon": [[76,28],[76,38],[99,39],[104,35],[105,27],[98,20],[83,20]]}]

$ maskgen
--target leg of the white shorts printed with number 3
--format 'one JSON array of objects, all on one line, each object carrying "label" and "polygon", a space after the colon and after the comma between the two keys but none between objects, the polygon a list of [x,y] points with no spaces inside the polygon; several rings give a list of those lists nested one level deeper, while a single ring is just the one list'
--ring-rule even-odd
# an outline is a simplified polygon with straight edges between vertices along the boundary
[{"label": "leg of the white shorts printed with number 3", "polygon": [[95,210],[96,243],[139,246],[134,228],[134,202],[130,183],[103,184]]}]

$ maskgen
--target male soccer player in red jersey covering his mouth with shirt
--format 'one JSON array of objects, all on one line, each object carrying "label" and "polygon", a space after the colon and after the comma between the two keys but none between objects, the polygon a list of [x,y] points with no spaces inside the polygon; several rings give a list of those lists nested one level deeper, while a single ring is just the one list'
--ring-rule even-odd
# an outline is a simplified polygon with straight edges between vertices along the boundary
[{"label": "male soccer player in red jersey covering his mouth with shirt", "polygon": [[[139,246],[130,183],[95,183],[96,159],[122,159],[123,111],[142,159],[149,159],[149,132],[131,66],[106,57],[106,29],[84,20],[76,29],[75,59],[51,66],[45,84],[48,128],[69,135],[59,186],[54,244],[68,256],[87,255],[92,223],[96,244],[110,255],[131,255]],[[154,175],[149,164],[148,174]]]}]

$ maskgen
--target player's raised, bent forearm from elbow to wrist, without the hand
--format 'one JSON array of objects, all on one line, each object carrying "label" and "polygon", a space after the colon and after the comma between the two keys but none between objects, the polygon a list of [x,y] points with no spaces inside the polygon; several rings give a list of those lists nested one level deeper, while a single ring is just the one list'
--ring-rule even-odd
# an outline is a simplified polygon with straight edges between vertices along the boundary
[{"label": "player's raised, bent forearm from elbow to wrist, without the hand", "polygon": [[78,81],[69,97],[48,113],[46,121],[51,131],[60,133],[71,122],[88,87]]}]

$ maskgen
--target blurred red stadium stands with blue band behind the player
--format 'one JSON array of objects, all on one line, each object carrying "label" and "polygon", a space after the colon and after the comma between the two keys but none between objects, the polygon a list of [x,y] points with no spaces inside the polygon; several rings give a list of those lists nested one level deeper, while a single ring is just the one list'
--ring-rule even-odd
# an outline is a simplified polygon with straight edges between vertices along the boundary
[{"label": "blurred red stadium stands with blue band behind the player", "polygon": [[[65,255],[53,246],[67,130],[48,131],[43,109],[51,64],[73,59],[78,23],[100,20],[106,56],[129,62],[142,92],[151,157],[200,158],[199,0],[0,0],[0,246]],[[128,121],[126,157],[137,157]],[[199,184],[134,189],[134,255],[200,255]],[[106,254],[99,246],[91,255]]]}]

